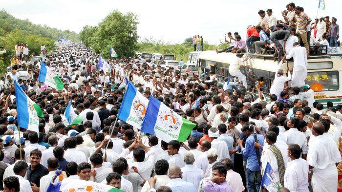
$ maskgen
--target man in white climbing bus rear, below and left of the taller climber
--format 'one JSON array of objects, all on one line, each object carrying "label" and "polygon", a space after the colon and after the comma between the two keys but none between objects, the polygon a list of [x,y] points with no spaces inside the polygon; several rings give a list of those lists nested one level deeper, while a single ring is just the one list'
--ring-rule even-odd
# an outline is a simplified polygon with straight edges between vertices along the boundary
[{"label": "man in white climbing bus rear, below and left of the taller climber", "polygon": [[272,83],[270,93],[276,94],[277,97],[280,95],[280,92],[284,90],[285,83],[288,81],[291,81],[291,73],[287,69],[287,77],[284,76],[284,71],[281,69],[281,66],[283,65],[283,60],[278,65],[278,72],[276,73],[274,77],[274,81]]}]

